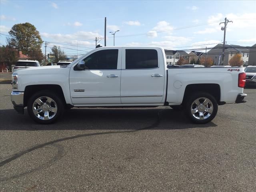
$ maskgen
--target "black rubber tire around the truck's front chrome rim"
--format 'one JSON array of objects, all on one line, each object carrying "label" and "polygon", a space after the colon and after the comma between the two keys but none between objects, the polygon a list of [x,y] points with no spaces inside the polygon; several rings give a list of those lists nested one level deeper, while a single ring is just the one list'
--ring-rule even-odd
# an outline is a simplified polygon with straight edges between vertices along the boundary
[{"label": "black rubber tire around the truck's front chrome rim", "polygon": [[[54,101],[54,106],[57,108],[57,111],[55,113],[55,115],[50,118],[50,119],[46,119],[46,120],[42,120],[40,118],[38,118],[34,112],[33,112],[33,109],[34,109],[34,102],[36,99],[38,98],[44,98],[44,97],[48,97],[48,98],[51,98],[53,101]],[[64,104],[63,104],[63,101],[60,99],[60,96],[50,90],[42,90],[42,91],[39,91],[39,92],[36,92],[34,95],[32,95],[29,100],[28,100],[28,114],[30,115],[30,117],[37,123],[40,123],[40,124],[52,124],[54,123],[56,120],[58,120],[58,118],[60,118],[62,116],[64,112]],[[42,111],[42,113],[44,113],[44,111]],[[49,112],[49,117],[50,117],[50,113],[54,114],[54,112]],[[39,114],[39,113],[38,113]],[[40,113],[41,114],[41,113]]]}]

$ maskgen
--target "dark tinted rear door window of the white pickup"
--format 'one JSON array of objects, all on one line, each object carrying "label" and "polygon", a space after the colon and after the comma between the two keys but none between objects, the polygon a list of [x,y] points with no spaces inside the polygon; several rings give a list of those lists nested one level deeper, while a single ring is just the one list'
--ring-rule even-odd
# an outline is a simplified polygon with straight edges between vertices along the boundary
[{"label": "dark tinted rear door window of the white pickup", "polygon": [[125,69],[158,68],[158,53],[155,49],[126,49]]}]

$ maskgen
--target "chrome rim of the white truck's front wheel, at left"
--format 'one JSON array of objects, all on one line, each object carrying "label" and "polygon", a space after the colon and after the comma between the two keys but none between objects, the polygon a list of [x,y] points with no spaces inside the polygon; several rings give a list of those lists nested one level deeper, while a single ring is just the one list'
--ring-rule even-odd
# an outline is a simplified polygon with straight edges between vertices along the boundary
[{"label": "chrome rim of the white truck's front wheel, at left", "polygon": [[42,96],[34,101],[32,110],[37,118],[41,120],[49,120],[56,115],[57,104],[52,98]]}]

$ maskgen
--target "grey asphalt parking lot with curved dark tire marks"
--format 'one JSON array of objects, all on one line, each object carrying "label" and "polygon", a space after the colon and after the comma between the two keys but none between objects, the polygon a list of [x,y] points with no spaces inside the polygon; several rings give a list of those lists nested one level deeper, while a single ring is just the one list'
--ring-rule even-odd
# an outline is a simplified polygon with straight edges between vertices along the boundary
[{"label": "grey asphalt parking lot with curved dark tire marks", "polygon": [[0,191],[256,191],[256,89],[190,123],[158,108],[72,108],[56,124],[19,115],[0,84]]}]

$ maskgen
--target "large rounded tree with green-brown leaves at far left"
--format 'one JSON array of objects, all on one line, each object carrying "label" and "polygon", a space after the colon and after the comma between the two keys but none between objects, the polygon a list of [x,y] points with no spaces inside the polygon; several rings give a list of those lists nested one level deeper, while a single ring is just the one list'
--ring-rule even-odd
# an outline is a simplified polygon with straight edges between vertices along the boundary
[{"label": "large rounded tree with green-brown leaves at far left", "polygon": [[13,46],[31,59],[41,62],[43,41],[34,25],[30,23],[15,24],[9,34],[13,37],[9,39],[9,46]]}]

